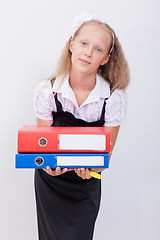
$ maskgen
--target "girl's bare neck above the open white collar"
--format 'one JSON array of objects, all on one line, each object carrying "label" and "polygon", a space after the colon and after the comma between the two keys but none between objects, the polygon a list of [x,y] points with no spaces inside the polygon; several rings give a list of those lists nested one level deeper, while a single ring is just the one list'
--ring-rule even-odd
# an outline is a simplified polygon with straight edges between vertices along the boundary
[{"label": "girl's bare neck above the open white collar", "polygon": [[70,71],[70,86],[73,90],[92,91],[96,84],[96,74],[85,74]]}]

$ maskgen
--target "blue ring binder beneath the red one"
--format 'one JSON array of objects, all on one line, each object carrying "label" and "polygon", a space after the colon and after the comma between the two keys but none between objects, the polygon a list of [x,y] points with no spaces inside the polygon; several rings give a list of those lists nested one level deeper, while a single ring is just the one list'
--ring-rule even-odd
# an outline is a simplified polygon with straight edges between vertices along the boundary
[{"label": "blue ring binder beneath the red one", "polygon": [[108,168],[108,153],[18,153],[16,168]]}]

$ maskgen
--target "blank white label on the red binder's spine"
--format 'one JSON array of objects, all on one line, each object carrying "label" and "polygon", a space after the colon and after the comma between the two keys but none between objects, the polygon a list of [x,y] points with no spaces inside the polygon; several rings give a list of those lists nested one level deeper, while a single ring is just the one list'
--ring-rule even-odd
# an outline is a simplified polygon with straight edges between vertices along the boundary
[{"label": "blank white label on the red binder's spine", "polygon": [[106,149],[106,136],[94,134],[60,134],[60,150],[95,150]]}]

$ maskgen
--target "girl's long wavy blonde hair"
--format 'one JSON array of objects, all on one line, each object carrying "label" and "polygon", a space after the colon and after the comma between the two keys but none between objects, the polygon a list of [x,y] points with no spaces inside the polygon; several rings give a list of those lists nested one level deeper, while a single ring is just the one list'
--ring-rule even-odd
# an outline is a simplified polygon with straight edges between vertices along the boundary
[{"label": "girl's long wavy blonde hair", "polygon": [[[130,82],[130,74],[129,74],[129,68],[127,60],[124,56],[121,44],[113,31],[113,29],[106,23],[103,23],[99,20],[90,20],[86,21],[83,24],[80,25],[80,27],[76,30],[73,36],[73,40],[78,36],[80,30],[89,24],[97,24],[105,28],[105,30],[110,34],[111,38],[111,44],[110,44],[110,50],[109,55],[110,59],[109,61],[98,68],[97,73],[102,76],[109,84],[111,91],[114,91],[115,89],[125,89],[129,82]],[[114,36],[114,39],[113,39]],[[65,76],[70,72],[71,70],[71,51],[70,51],[70,42],[72,37],[67,41],[66,46],[62,52],[62,55],[60,57],[60,60],[58,62],[58,68],[55,72],[55,74],[52,76],[53,78],[56,78],[60,75],[62,75],[62,81],[65,78]],[[113,42],[114,41],[114,42]]]}]

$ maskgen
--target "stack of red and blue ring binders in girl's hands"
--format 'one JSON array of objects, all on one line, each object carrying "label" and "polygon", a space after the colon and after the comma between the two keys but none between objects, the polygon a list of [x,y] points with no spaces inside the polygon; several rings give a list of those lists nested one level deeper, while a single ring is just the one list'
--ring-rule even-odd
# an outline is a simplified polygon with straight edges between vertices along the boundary
[{"label": "stack of red and blue ring binders in girl's hands", "polygon": [[16,168],[108,168],[107,127],[24,126],[18,131]]}]

